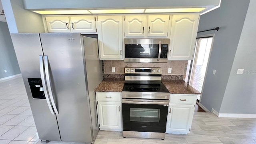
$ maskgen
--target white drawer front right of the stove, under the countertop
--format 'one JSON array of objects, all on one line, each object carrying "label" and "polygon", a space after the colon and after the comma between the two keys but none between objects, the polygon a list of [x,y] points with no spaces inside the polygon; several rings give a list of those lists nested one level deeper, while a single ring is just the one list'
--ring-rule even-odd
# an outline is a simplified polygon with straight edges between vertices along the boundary
[{"label": "white drawer front right of the stove, under the countertop", "polygon": [[170,104],[195,104],[197,95],[170,95]]}]

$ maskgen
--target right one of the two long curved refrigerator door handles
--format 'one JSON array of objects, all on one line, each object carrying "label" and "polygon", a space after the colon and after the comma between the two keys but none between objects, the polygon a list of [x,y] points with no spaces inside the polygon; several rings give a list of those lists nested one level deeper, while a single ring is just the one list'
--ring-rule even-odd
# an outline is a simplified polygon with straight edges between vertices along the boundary
[{"label": "right one of the two long curved refrigerator door handles", "polygon": [[46,76],[46,83],[47,83],[47,88],[48,88],[48,92],[49,92],[49,96],[50,96],[50,100],[52,102],[52,107],[54,109],[55,114],[59,114],[56,104],[54,102],[54,98],[52,95],[52,87],[51,87],[51,83],[50,83],[50,75],[49,75],[49,66],[48,66],[48,56],[44,56],[44,68],[45,68],[45,76]]}]

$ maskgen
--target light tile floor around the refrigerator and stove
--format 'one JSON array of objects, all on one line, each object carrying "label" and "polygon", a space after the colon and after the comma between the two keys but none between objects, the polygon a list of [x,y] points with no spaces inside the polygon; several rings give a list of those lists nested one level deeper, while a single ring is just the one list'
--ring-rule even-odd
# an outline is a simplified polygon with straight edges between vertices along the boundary
[{"label": "light tile floor around the refrigerator and stove", "polygon": [[[40,144],[22,78],[0,82],[0,144]],[[166,134],[160,140],[123,138],[122,132],[100,131],[94,144],[256,144],[256,119],[195,112],[188,135]]]}]

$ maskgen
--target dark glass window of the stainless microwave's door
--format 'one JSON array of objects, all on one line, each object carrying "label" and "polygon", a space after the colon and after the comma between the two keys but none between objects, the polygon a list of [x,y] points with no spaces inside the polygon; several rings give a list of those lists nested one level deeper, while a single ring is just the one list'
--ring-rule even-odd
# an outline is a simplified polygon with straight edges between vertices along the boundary
[{"label": "dark glass window of the stainless microwave's door", "polygon": [[158,58],[158,44],[125,44],[125,58]]}]

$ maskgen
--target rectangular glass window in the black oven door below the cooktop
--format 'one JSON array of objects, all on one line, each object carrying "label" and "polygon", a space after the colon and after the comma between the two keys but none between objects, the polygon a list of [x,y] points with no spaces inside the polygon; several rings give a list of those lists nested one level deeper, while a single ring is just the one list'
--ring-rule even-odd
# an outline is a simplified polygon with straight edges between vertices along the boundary
[{"label": "rectangular glass window in the black oven door below the cooktop", "polygon": [[130,121],[133,122],[159,122],[160,109],[130,108]]}]

